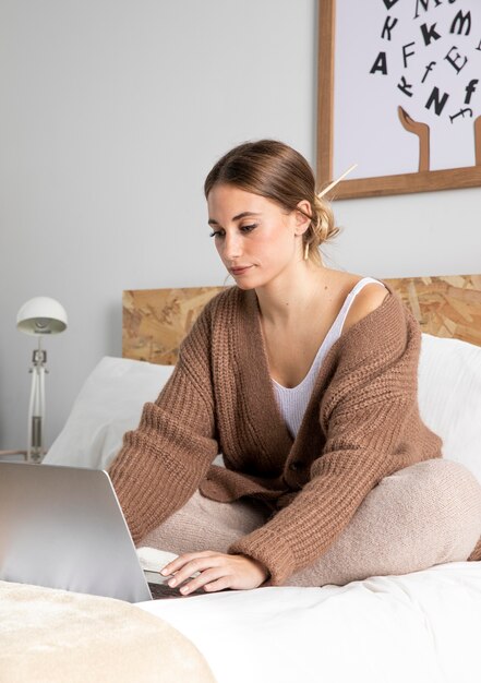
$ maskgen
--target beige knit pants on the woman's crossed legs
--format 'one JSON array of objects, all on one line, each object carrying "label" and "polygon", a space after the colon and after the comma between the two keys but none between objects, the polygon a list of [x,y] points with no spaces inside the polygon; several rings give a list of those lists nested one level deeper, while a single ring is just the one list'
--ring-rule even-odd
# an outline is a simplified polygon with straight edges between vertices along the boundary
[{"label": "beige knit pants on the woman's crossed legs", "polygon": [[[237,538],[262,526],[268,514],[260,501],[218,503],[197,490],[140,546],[177,554],[227,552]],[[369,576],[464,562],[480,537],[481,486],[476,477],[452,460],[424,460],[385,477],[327,551],[284,585],[344,586]],[[470,559],[481,559],[480,551],[478,543]]]}]

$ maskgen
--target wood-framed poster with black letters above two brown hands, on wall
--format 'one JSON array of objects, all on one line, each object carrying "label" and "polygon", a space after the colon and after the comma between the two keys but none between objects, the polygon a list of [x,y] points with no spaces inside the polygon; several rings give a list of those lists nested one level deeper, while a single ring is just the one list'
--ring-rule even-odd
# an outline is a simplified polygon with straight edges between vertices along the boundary
[{"label": "wood-framed poster with black letters above two brown hands, on wall", "polygon": [[481,185],[481,0],[320,0],[317,181],[337,199]]}]

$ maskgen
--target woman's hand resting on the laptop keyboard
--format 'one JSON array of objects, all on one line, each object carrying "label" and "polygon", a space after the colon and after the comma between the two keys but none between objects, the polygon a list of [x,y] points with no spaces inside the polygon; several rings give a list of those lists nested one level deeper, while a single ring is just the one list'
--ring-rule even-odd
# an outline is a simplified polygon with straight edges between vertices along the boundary
[{"label": "woman's hand resting on the laptop keyboard", "polygon": [[177,587],[196,572],[200,572],[199,576],[191,578],[188,584],[180,588],[182,595],[188,595],[202,587],[207,592],[224,590],[225,588],[237,590],[257,588],[269,575],[268,570],[253,558],[228,555],[211,550],[179,555],[166,564],[160,574],[163,576],[175,574],[167,583],[171,587]]}]

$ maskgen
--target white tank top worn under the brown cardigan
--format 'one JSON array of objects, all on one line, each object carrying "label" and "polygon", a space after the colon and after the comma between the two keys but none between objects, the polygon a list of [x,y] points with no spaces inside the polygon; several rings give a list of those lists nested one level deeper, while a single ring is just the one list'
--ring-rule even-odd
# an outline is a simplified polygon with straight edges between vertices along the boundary
[{"label": "white tank top worn under the brown cardigan", "polygon": [[352,301],[354,300],[358,292],[360,292],[361,289],[369,283],[377,283],[378,285],[382,285],[384,287],[383,283],[380,283],[380,280],[376,280],[373,277],[363,277],[351,289],[351,291],[346,297],[346,301],[344,302],[342,308],[340,309],[330,329],[326,334],[324,342],[321,344],[321,347],[313,360],[310,371],[302,380],[302,382],[292,388],[288,388],[273,380],[273,385],[280,412],[293,439],[296,439],[296,435],[302,422],[302,418],[304,417],[305,408],[308,407],[309,399],[311,398],[315,380],[321,370],[321,364],[333,344],[337,342],[337,339],[340,337],[342,332],[342,325],[345,323],[349,309],[351,308]]}]

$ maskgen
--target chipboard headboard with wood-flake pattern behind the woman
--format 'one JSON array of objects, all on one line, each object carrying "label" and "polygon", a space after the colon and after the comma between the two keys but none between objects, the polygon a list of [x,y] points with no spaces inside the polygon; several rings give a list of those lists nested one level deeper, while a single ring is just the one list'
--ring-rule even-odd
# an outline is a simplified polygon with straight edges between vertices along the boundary
[{"label": "chipboard headboard with wood-flake pattern behind the woman", "polygon": [[[481,346],[481,275],[383,278],[411,309],[422,332]],[[175,364],[204,305],[225,287],[123,292],[122,356]]]}]

